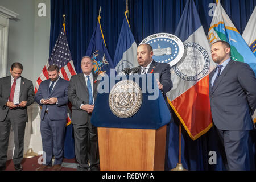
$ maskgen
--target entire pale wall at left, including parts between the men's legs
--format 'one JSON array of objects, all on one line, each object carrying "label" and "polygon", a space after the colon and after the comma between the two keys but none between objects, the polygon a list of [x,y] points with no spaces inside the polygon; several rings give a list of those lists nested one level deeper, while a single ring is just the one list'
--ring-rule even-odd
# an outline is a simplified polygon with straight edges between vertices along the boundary
[{"label": "entire pale wall at left, including parts between the men's legs", "polygon": [[[46,16],[38,16],[38,4],[45,3]],[[36,84],[49,57],[50,0],[0,0],[0,6],[18,13],[18,20],[9,20],[7,75],[11,64],[23,65],[22,76]],[[40,109],[34,103],[28,107],[28,123],[24,138],[24,153],[28,148],[42,151],[40,136]],[[13,153],[13,133],[10,134],[8,159]]]}]

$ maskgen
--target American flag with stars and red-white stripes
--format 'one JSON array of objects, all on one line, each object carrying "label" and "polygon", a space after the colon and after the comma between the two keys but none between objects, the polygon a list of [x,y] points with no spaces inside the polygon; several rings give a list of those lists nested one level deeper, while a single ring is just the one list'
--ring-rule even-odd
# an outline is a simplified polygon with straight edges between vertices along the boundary
[{"label": "American flag with stars and red-white stripes", "polygon": [[[43,68],[38,80],[36,81],[35,93],[38,92],[39,85],[42,81],[49,78],[47,68],[49,65],[56,65],[60,68],[60,77],[65,80],[70,80],[72,75],[76,75],[75,67],[71,57],[71,53],[68,46],[68,41],[64,33],[64,28],[61,28],[59,37],[52,50],[51,56],[49,57],[46,65]],[[70,111],[68,112],[70,113]],[[68,114],[68,125],[71,123],[71,119]]]}]

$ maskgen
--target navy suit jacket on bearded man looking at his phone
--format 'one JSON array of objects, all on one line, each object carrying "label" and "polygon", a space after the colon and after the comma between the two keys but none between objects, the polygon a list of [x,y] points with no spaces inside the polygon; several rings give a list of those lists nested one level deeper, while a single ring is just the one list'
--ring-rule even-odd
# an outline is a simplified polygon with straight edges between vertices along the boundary
[{"label": "navy suit jacket on bearded man looking at his phone", "polygon": [[[48,114],[51,120],[67,119],[69,81],[64,80],[63,78],[60,77],[59,80],[56,82],[56,85],[52,89],[51,94],[49,94],[50,82],[51,80],[49,79],[42,81],[38,88],[38,92],[36,93],[36,96],[35,96],[35,101],[40,106],[42,106],[41,119],[44,119],[44,115],[46,114],[45,112],[46,106],[48,108]],[[51,97],[57,98],[58,100],[57,104],[45,105],[40,103],[40,100],[42,98],[51,98]]]}]

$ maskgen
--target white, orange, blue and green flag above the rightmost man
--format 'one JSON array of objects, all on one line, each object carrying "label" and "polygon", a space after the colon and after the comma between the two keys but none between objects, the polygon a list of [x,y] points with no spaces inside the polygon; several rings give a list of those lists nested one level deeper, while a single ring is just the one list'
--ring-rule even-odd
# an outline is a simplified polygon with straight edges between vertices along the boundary
[{"label": "white, orange, blue and green flag above the rightmost man", "polygon": [[210,44],[217,40],[228,42],[231,49],[231,59],[249,64],[256,74],[256,56],[230,20],[220,2],[217,3],[214,11],[207,38]]}]

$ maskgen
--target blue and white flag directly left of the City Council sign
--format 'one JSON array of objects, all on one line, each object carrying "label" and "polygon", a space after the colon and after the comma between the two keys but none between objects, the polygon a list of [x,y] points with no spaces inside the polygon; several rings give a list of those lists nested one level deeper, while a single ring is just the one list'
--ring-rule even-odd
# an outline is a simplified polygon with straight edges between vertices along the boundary
[{"label": "blue and white flag directly left of the City Council sign", "polygon": [[119,34],[117,48],[115,49],[114,67],[119,73],[123,68],[137,67],[137,44],[135,43],[133,33],[131,33],[129,21],[127,18],[128,11],[125,11],[122,28]]}]

